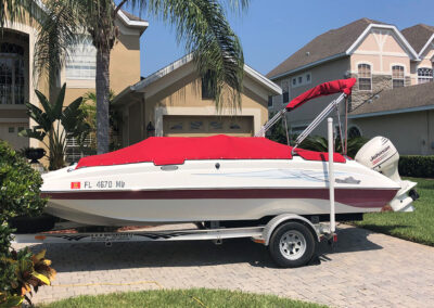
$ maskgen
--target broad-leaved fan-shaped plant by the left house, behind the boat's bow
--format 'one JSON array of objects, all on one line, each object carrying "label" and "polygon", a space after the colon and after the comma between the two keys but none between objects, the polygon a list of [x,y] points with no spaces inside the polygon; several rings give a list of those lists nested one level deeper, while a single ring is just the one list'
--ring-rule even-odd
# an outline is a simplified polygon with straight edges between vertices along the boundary
[{"label": "broad-leaved fan-shaped plant by the left house, behind the boat's bow", "polygon": [[[50,169],[55,170],[65,166],[65,149],[67,138],[77,138],[79,141],[89,133],[85,114],[80,110],[82,98],[78,98],[63,108],[66,84],[63,85],[54,103],[49,102],[46,95],[35,90],[43,111],[34,104],[26,103],[27,114],[38,125],[20,132],[22,137],[35,138],[49,149]],[[48,137],[48,144],[46,143]]]}]

